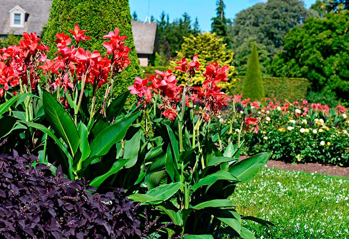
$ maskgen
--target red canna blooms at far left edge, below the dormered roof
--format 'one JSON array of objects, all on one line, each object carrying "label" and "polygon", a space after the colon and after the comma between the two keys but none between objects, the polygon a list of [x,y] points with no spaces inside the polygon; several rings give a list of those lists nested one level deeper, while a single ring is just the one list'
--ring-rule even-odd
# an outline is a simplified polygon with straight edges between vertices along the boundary
[{"label": "red canna blooms at far left edge, below the dormered roof", "polygon": [[35,89],[40,79],[37,69],[48,50],[36,33],[26,32],[18,45],[0,49],[0,98],[19,84]]}]

